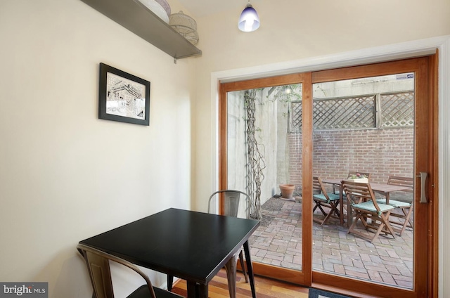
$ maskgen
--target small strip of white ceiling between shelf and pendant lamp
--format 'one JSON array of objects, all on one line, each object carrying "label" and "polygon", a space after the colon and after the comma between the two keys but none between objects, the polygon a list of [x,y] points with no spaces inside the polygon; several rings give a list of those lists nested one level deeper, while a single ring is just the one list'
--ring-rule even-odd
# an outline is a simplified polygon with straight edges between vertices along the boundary
[{"label": "small strip of white ceiling between shelf and pendant lamp", "polygon": [[248,4],[248,0],[179,0],[179,2],[194,17],[203,17],[221,11],[242,11]]}]

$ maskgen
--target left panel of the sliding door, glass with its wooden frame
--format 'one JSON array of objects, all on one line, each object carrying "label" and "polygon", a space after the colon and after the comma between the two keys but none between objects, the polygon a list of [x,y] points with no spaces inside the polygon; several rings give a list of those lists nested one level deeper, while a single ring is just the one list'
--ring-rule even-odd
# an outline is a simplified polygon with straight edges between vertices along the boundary
[{"label": "left panel of the sliding door, glass with its wooden frame", "polygon": [[[302,138],[288,131],[292,105],[302,102],[310,78],[290,74],[222,84],[220,105],[221,151],[226,152],[220,158],[220,187],[252,194],[252,217],[261,219],[250,239],[255,270],[300,284],[310,279],[303,273],[304,258],[310,257],[304,254],[309,242],[302,233],[310,228],[302,221],[302,167],[295,167],[302,163]],[[280,184],[294,186],[290,197],[281,197]],[[285,204],[292,208],[286,210]]]}]

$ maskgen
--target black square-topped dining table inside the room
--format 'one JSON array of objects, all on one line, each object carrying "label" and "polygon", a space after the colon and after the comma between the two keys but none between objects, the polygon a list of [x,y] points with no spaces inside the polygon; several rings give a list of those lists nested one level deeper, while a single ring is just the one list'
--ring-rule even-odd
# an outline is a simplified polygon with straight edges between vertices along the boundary
[{"label": "black square-topped dining table inside the room", "polygon": [[186,280],[188,298],[207,298],[210,280],[244,247],[255,298],[248,239],[258,226],[254,219],[170,208],[79,243]]}]

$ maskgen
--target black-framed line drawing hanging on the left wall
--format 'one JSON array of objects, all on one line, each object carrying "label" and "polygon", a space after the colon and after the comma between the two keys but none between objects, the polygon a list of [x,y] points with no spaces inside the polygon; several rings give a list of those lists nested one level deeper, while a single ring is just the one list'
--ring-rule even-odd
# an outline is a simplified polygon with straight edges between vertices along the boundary
[{"label": "black-framed line drawing hanging on the left wall", "polygon": [[150,82],[100,63],[98,118],[150,124]]}]

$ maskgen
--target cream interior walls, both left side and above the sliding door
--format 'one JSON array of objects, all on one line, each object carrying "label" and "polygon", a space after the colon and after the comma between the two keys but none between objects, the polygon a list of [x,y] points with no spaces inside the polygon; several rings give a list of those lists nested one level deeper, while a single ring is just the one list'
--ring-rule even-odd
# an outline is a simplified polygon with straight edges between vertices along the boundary
[{"label": "cream interior walls, both left side and above the sliding door", "polygon": [[[167,207],[205,211],[217,187],[214,72],[450,34],[449,1],[255,8],[250,34],[236,28],[240,11],[197,19],[203,56],[175,65],[82,1],[0,2],[1,281],[90,297],[79,240]],[[151,82],[150,127],[97,119],[100,62]]]}]

